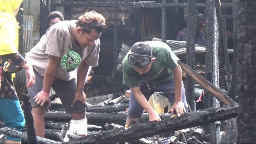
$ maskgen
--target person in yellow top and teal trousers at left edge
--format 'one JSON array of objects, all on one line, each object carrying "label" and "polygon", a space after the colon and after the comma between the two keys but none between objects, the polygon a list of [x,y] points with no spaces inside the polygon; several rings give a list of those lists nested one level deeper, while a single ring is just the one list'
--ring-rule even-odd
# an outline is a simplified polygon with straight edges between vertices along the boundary
[{"label": "person in yellow top and teal trousers at left edge", "polygon": [[[26,69],[27,87],[35,83],[33,68],[18,52],[18,22],[15,16],[22,0],[0,0],[0,117],[6,127],[21,131],[25,125],[11,74]],[[5,143],[21,143],[20,138],[6,136]]]}]

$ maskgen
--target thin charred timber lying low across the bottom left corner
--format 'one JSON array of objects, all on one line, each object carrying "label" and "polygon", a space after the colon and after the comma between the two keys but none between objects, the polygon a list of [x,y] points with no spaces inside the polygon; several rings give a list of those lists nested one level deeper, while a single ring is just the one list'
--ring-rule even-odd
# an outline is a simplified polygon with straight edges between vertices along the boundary
[{"label": "thin charred timber lying low across the bottom left corner", "polygon": [[[11,129],[11,128],[8,128],[8,127],[1,128],[0,133],[1,134],[7,134],[8,136],[15,137],[15,138],[21,138],[23,140],[28,140],[26,132],[19,132],[15,129]],[[36,143],[52,144],[52,143],[60,143],[60,142],[49,140],[49,139],[37,136]]]}]

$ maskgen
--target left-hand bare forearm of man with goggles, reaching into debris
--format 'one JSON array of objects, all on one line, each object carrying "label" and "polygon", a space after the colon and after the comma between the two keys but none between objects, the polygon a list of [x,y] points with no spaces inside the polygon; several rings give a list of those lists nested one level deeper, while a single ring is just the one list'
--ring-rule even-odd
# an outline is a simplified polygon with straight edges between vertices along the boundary
[{"label": "left-hand bare forearm of man with goggles, reaching into debris", "polygon": [[140,87],[131,88],[133,92],[133,96],[138,101],[138,103],[148,112],[149,114],[149,121],[160,121],[160,117],[157,112],[149,105],[145,96],[141,93]]}]

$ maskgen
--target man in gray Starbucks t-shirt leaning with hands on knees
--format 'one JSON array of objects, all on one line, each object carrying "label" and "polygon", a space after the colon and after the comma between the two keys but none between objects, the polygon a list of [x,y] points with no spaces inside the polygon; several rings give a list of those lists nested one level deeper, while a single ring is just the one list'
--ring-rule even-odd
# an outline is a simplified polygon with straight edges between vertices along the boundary
[{"label": "man in gray Starbucks t-shirt leaning with hands on knees", "polygon": [[83,88],[89,66],[98,66],[99,37],[105,26],[105,18],[95,11],[85,13],[78,21],[58,22],[27,53],[26,59],[36,75],[35,86],[28,92],[37,136],[44,137],[44,118],[51,106],[51,87],[66,112],[71,113],[69,134],[87,135]]}]

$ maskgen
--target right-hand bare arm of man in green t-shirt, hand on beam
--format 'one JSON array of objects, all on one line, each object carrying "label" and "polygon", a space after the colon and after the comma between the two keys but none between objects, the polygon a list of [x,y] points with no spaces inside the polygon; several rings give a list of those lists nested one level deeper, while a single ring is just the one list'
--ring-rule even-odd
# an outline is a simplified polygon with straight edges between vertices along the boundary
[{"label": "right-hand bare arm of man in green t-shirt, hand on beam", "polygon": [[173,70],[174,73],[174,103],[171,108],[171,113],[173,114],[173,110],[176,110],[176,113],[183,114],[186,112],[184,103],[181,99],[181,89],[182,89],[182,70],[180,65],[178,64],[177,67]]}]

